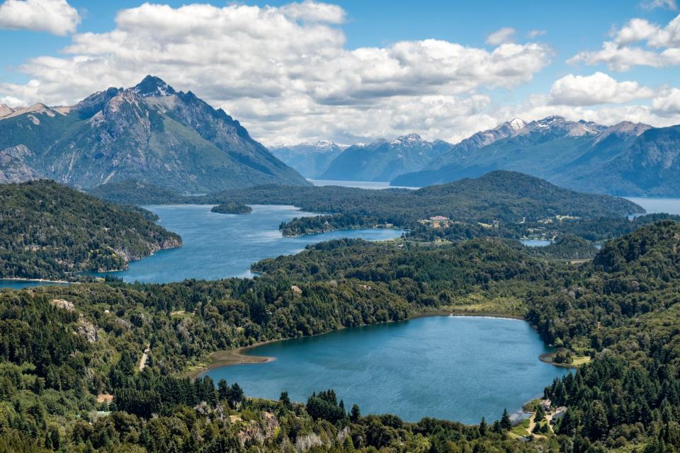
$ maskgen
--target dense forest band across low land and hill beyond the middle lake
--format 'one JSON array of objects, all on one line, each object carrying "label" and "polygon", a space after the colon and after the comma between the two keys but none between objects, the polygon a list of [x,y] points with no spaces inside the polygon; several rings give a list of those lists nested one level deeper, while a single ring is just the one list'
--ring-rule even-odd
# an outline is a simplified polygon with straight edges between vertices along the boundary
[{"label": "dense forest band across low land and hill beyond the middle lake", "polygon": [[[156,187],[140,188],[134,182],[102,185],[92,193],[105,200],[137,204],[159,203],[165,196],[164,203],[174,203],[179,197]],[[557,234],[602,241],[633,231],[636,226],[627,228],[626,216],[645,211],[623,198],[577,193],[512,171],[492,171],[480,178],[419,190],[263,185],[180,198],[211,205],[295,205],[325,214],[281,224],[285,236],[391,224],[409,229],[412,239],[425,241],[481,236],[553,238]],[[450,222],[437,229],[424,224],[433,216],[448,217]]]}]

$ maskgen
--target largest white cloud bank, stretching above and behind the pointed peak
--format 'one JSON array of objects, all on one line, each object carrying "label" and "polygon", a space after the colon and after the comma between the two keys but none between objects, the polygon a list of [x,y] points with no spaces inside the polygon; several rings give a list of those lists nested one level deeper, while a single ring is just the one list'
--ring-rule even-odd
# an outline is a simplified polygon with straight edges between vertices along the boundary
[{"label": "largest white cloud bank, stretching above and behind the pointed peak", "polygon": [[266,143],[390,137],[417,130],[455,138],[475,130],[491,99],[481,91],[531,81],[552,56],[535,42],[492,49],[444,40],[348,50],[339,6],[279,8],[143,4],[115,29],[74,35],[59,57],[28,60],[29,84],[0,96],[70,104],[146,74],[191,90],[242,120]]}]

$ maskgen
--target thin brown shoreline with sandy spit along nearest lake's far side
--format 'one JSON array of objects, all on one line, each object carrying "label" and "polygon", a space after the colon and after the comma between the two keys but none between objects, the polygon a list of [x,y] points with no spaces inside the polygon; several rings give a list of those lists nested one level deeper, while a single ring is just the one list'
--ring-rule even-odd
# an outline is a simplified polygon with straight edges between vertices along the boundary
[{"label": "thin brown shoreline with sandy spit along nearest lake's far side", "polygon": [[[446,310],[439,310],[439,311],[431,311],[431,312],[426,312],[426,313],[419,313],[415,314],[414,316],[409,316],[407,319],[400,319],[399,321],[385,321],[383,323],[375,323],[375,324],[363,324],[361,326],[352,326],[354,327],[368,327],[368,326],[379,326],[380,324],[387,324],[387,323],[395,323],[395,322],[404,322],[404,321],[410,321],[412,319],[419,319],[419,318],[431,318],[434,316],[453,316],[453,317],[473,317],[473,318],[498,318],[498,319],[514,319],[517,321],[525,321],[523,317],[521,316],[515,316],[515,315],[509,315],[509,314],[496,314],[496,313],[480,313],[480,314],[475,314],[475,313],[469,313],[469,312],[464,312],[464,311],[446,311]],[[315,333],[314,335],[309,335],[309,336],[302,336],[302,337],[291,337],[291,338],[276,338],[272,340],[265,340],[265,341],[260,341],[258,343],[255,343],[254,345],[249,345],[249,346],[240,346],[239,348],[234,348],[234,349],[227,349],[227,350],[218,350],[215,352],[211,352],[210,355],[208,355],[208,360],[209,363],[205,366],[200,366],[196,365],[195,369],[188,369],[186,372],[183,372],[183,375],[188,377],[189,379],[196,379],[197,377],[200,377],[201,374],[210,371],[211,369],[215,368],[220,368],[220,367],[231,367],[234,365],[245,365],[249,363],[268,363],[268,362],[273,362],[276,360],[276,357],[267,357],[263,355],[244,355],[243,352],[246,352],[248,350],[258,348],[259,346],[264,346],[264,345],[270,345],[271,343],[278,343],[280,341],[286,341],[286,340],[293,340],[295,338],[312,338],[316,336],[322,336],[326,335],[327,333],[331,333],[334,331],[341,331],[343,329],[346,329],[348,327],[342,326],[341,328],[336,328],[331,331],[323,332],[323,333]],[[540,357],[539,357],[540,360]],[[543,360],[542,360],[543,361]]]}]

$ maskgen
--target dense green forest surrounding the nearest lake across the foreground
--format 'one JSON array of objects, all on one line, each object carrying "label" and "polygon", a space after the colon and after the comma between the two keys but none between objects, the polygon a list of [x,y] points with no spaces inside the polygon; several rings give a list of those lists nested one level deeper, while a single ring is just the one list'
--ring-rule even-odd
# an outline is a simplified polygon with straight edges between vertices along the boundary
[{"label": "dense green forest surrounding the nearest lake across the foreground", "polygon": [[[0,451],[675,452],[679,243],[670,220],[582,264],[504,239],[339,240],[263,260],[254,280],[0,292]],[[404,423],[328,389],[263,401],[237,383],[182,377],[215,350],[442,311],[522,316],[565,357],[590,357],[546,383],[567,406],[554,434],[520,442],[503,414]]]}]

